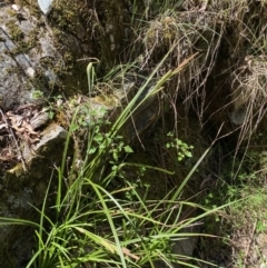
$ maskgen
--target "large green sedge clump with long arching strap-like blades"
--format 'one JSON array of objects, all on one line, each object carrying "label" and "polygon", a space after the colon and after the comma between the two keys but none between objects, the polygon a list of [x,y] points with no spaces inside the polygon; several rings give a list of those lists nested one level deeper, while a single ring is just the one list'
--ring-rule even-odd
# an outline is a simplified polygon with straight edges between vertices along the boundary
[{"label": "large green sedge clump with long arching strap-like blades", "polygon": [[[70,149],[70,140],[77,130],[79,109],[73,113],[61,167],[57,168],[57,195],[55,206],[48,208],[48,195],[52,179],[48,183],[47,193],[41,208],[36,208],[39,222],[26,219],[0,217],[0,225],[27,225],[34,228],[37,239],[32,257],[26,268],[76,268],[76,267],[196,267],[185,260],[185,256],[172,252],[174,244],[199,234],[182,232],[201,218],[218,210],[207,210],[204,207],[181,200],[182,189],[196,171],[208,150],[198,160],[182,183],[162,200],[147,200],[140,196],[136,187],[127,181],[123,172],[127,168],[155,169],[158,172],[171,173],[161,168],[127,161],[110,161],[110,148],[119,135],[119,130],[131,118],[144,101],[160,92],[166,81],[175,77],[195,56],[187,59],[175,70],[167,71],[159,78],[152,90],[145,95],[149,81],[168,57],[148,77],[136,96],[123,108],[110,129],[102,133],[101,145],[96,147],[96,125],[89,127],[87,137],[87,153],[82,165],[77,167],[76,153],[70,170],[66,162]],[[92,64],[88,67],[89,88],[93,86],[91,79]],[[131,152],[129,147],[126,152]],[[75,179],[72,179],[75,176]],[[126,186],[112,189],[112,181],[120,177]],[[110,188],[111,186],[111,188]],[[109,190],[108,190],[109,189]],[[125,198],[131,192],[132,199]],[[119,197],[118,197],[119,193]],[[185,207],[200,208],[202,214],[189,219],[182,219]],[[53,212],[51,212],[51,210]],[[188,259],[188,258],[187,258]],[[194,259],[189,257],[189,259]]]}]

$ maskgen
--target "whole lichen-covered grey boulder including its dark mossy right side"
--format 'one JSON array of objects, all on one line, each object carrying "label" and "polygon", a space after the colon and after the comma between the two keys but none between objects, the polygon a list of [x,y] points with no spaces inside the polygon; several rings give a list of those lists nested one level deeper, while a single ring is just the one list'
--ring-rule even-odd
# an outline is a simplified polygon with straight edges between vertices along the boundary
[{"label": "whole lichen-covered grey boulder including its dark mossy right side", "polygon": [[0,6],[0,106],[7,110],[40,102],[59,87],[71,88],[78,81],[70,76],[80,73],[73,62],[83,54],[85,43],[30,8]]}]

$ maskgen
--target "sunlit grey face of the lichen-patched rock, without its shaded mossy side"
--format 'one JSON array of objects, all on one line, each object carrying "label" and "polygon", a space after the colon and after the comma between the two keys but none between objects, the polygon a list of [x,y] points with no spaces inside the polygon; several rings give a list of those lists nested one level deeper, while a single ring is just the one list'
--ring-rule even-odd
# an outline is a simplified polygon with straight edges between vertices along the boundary
[{"label": "sunlit grey face of the lichen-patched rock, without its shaded mossy side", "polygon": [[[60,57],[52,48],[52,39],[46,36],[39,21],[26,8],[0,7],[0,95],[1,107],[36,101],[34,91],[48,92],[53,82],[41,67],[46,57]],[[46,42],[41,38],[46,37]]]}]

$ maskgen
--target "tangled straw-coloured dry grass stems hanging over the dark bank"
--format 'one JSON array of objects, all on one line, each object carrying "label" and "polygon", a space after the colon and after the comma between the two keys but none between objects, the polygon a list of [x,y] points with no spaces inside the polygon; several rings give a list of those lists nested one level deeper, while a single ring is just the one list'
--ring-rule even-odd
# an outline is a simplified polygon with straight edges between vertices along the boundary
[{"label": "tangled straw-coloured dry grass stems hanging over the dark bank", "polygon": [[218,64],[218,54],[224,53],[224,39],[228,46],[229,58],[225,61],[231,87],[225,108],[229,106],[231,110],[238,110],[243,106],[246,111],[239,137],[241,142],[255,132],[265,113],[266,59],[263,54],[266,53],[267,27],[263,18],[266,14],[267,2],[264,0],[182,1],[174,9],[166,9],[140,30],[145,48],[140,69],[152,68],[155,58],[174,44],[176,49],[165,69],[174,68],[188,54],[198,51],[199,57],[172,85],[177,93],[169,99],[175,107],[179,91],[185,103],[194,107],[202,121],[207,105],[206,82]]}]

